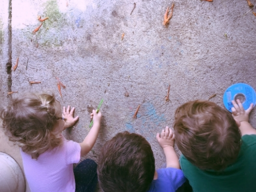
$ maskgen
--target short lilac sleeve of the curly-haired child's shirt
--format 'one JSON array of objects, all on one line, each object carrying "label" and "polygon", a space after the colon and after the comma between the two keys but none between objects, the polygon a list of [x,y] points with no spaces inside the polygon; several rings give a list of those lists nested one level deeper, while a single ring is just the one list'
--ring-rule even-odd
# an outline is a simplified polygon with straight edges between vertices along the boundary
[{"label": "short lilac sleeve of the curly-haired child's shirt", "polygon": [[78,163],[81,156],[81,146],[74,141],[64,141],[66,149],[66,164]]}]

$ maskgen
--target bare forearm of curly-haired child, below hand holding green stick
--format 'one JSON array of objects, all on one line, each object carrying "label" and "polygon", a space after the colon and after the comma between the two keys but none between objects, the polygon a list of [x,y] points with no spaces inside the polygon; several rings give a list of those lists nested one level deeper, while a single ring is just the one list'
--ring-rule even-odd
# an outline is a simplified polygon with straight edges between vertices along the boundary
[{"label": "bare forearm of curly-haired child, below hand holding green stick", "polygon": [[86,135],[84,141],[80,143],[81,156],[85,156],[89,151],[91,151],[91,149],[93,148],[93,145],[97,140],[99,130],[100,130],[100,124],[99,123],[93,124],[93,127],[89,131],[88,135]]}]

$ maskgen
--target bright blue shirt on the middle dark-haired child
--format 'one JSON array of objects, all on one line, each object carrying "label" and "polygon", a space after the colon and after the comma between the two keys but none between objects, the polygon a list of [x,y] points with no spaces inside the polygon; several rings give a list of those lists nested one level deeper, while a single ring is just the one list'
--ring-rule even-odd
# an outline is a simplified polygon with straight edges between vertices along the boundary
[{"label": "bright blue shirt on the middle dark-haired child", "polygon": [[160,168],[156,172],[157,179],[152,181],[148,192],[175,192],[186,181],[182,170],[177,168]]}]

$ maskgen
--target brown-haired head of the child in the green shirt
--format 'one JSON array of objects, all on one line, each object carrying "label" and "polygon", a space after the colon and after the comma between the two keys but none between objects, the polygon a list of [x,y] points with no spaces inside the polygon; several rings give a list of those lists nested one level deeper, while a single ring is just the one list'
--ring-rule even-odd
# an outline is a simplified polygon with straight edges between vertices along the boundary
[{"label": "brown-haired head of the child in the green shirt", "polygon": [[224,170],[240,151],[241,135],[231,113],[209,101],[192,101],[175,112],[179,150],[201,170]]}]

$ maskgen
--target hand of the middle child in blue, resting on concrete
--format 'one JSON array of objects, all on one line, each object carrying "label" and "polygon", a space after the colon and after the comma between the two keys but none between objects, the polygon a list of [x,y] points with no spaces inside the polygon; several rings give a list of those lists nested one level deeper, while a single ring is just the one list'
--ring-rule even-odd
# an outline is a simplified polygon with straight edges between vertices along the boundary
[{"label": "hand of the middle child in blue, resting on concrete", "polygon": [[165,130],[162,130],[161,134],[156,134],[156,139],[162,148],[174,147],[174,132],[167,126]]}]

